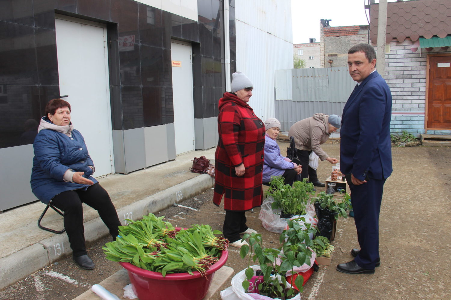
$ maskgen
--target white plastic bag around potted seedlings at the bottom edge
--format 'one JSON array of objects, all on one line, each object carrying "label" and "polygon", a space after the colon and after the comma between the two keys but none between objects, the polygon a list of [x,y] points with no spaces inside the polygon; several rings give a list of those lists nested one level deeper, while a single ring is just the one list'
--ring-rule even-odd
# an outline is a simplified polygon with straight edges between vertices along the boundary
[{"label": "white plastic bag around potted seedlings at the bottom edge", "polygon": [[[251,266],[254,269],[254,273],[256,270],[260,269],[260,266]],[[222,300],[280,300],[279,298],[273,299],[267,296],[263,296],[257,293],[245,293],[244,288],[241,285],[243,281],[246,279],[246,269],[239,271],[233,278],[231,282],[231,287],[226,288],[221,291],[221,299]],[[286,283],[287,287],[291,287],[290,283]],[[233,293],[231,293],[233,291]],[[235,294],[235,295],[234,295]],[[298,293],[295,297],[290,300],[301,300],[301,294]]]}]

